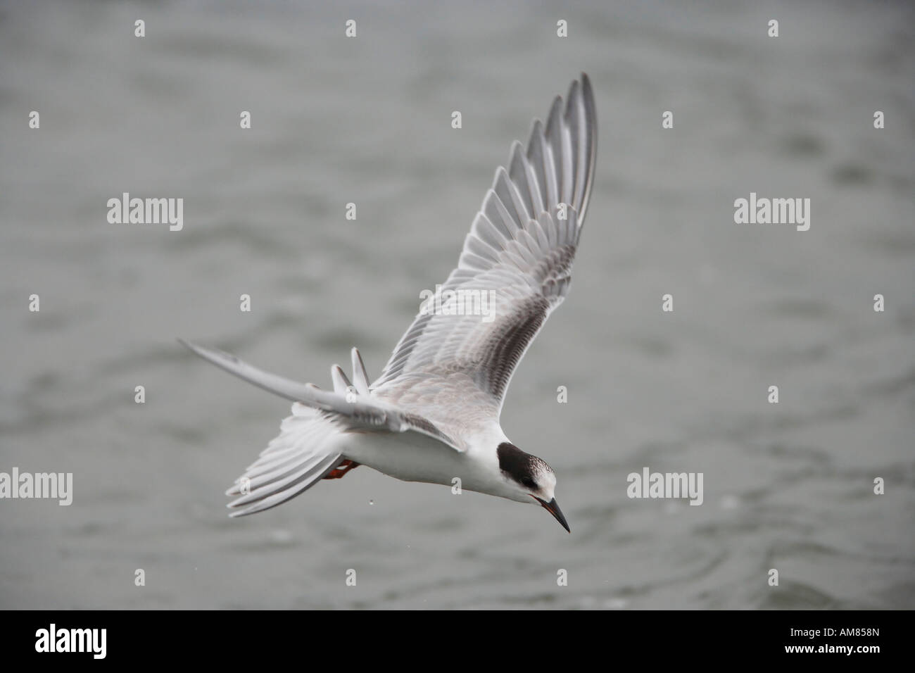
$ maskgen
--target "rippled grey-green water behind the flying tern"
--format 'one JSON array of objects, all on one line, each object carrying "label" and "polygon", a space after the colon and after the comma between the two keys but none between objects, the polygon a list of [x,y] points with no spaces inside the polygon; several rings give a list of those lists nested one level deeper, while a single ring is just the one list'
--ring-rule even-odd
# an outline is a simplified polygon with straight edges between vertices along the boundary
[{"label": "rippled grey-green water behind the flying tern", "polygon": [[[911,6],[607,5],[0,6],[0,471],[74,474],[70,507],[0,501],[0,606],[912,607]],[[369,469],[228,519],[288,406],[175,337],[378,374],[579,71],[576,278],[502,414],[572,535]],[[184,229],[107,223],[124,191],[184,198]],[[751,191],[810,198],[810,231],[735,224]],[[643,467],[703,472],[704,504],[630,500]]]}]

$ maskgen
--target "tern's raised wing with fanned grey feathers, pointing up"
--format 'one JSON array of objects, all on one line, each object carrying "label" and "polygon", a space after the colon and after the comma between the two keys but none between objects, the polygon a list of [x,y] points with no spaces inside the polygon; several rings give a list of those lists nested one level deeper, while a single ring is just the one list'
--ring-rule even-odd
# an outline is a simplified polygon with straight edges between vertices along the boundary
[{"label": "tern's raised wing with fanned grey feathers, pointing up", "polygon": [[404,333],[372,393],[449,429],[498,419],[511,374],[565,298],[594,180],[597,116],[587,75],[511,147],[464,242],[458,268]]}]

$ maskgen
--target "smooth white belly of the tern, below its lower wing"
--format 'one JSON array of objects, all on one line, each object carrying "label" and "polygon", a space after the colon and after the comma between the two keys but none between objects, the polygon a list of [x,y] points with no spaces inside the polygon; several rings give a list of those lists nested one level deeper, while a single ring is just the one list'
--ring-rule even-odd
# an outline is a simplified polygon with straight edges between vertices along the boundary
[{"label": "smooth white belly of the tern, below its lower wing", "polygon": [[416,432],[349,432],[342,446],[350,461],[406,482],[453,485],[474,490],[479,471],[466,453]]}]

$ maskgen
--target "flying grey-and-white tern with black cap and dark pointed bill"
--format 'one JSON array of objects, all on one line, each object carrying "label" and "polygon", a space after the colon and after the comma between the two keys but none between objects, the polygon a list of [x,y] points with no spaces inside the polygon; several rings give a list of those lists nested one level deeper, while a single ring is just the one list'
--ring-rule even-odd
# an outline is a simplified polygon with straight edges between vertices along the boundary
[{"label": "flying grey-and-white tern with black cap and dark pointed bill", "polygon": [[[371,385],[355,348],[352,381],[335,364],[331,392],[179,340],[294,403],[279,436],[226,492],[237,496],[230,516],[280,505],[367,465],[407,482],[459,483],[542,505],[571,532],[556,504],[553,469],[512,444],[499,417],[511,375],[568,292],[596,159],[594,94],[582,73],[565,102],[555,97],[545,125],[534,120],[527,147],[514,142],[458,267],[430,291]],[[484,295],[477,303],[459,299]]]}]

